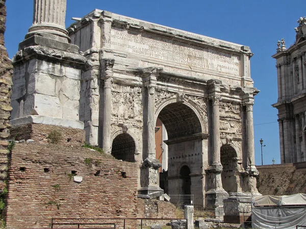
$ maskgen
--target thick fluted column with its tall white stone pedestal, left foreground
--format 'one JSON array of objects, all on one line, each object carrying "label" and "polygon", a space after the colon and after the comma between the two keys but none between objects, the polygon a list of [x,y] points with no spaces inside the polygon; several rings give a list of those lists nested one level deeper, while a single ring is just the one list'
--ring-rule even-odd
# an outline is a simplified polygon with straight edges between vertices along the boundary
[{"label": "thick fluted column with its tall white stone pedestal, left foreground", "polygon": [[68,43],[65,13],[66,0],[35,0],[33,25],[13,58],[11,133],[21,132],[23,139],[36,139],[19,129],[30,124],[46,135],[44,125],[74,128],[62,131],[62,142],[84,141],[80,86],[86,58]]}]

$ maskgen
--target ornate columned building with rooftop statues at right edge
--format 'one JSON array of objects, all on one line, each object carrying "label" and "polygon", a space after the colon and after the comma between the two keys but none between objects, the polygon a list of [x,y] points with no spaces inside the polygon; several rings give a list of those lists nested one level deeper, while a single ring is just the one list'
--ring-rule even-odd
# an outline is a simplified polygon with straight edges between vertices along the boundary
[{"label": "ornate columned building with rooftop statues at right edge", "polygon": [[295,44],[277,42],[276,59],[281,163],[306,161],[306,18],[298,21]]}]

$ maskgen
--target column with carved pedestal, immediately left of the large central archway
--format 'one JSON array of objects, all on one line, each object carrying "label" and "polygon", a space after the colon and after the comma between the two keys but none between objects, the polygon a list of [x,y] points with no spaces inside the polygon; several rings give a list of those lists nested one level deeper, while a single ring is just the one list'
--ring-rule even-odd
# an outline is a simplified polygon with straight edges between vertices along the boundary
[{"label": "column with carved pedestal, immediately left of the large central archway", "polygon": [[162,165],[156,159],[155,154],[155,88],[157,85],[157,75],[162,69],[147,68],[143,70],[145,78],[144,86],[147,89],[147,109],[144,112],[143,137],[146,139],[146,146],[143,151],[144,161],[141,167],[141,188],[138,190],[139,196],[155,198],[164,194],[164,190],[159,187],[159,167]]}]

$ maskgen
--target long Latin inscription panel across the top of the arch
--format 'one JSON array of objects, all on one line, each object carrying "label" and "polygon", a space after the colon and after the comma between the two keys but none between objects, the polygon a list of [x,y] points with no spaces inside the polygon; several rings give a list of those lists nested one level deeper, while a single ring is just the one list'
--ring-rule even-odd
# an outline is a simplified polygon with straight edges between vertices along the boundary
[{"label": "long Latin inscription panel across the top of the arch", "polygon": [[111,48],[227,74],[240,72],[239,56],[149,34],[133,35],[118,28],[111,31]]}]

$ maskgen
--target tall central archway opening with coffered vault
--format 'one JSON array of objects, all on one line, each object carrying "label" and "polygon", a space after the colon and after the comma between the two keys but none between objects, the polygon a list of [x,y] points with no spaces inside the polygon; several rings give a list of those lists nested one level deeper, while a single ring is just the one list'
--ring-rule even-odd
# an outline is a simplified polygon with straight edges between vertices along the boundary
[{"label": "tall central archway opening with coffered vault", "polygon": [[[164,106],[159,114],[166,129],[168,139],[168,194],[173,203],[175,196],[183,198],[190,204],[194,201],[203,203],[202,187],[202,127],[196,112],[183,102],[173,102]],[[193,173],[190,176],[191,171]],[[182,201],[182,199],[181,199]],[[181,203],[182,204],[182,203]]]}]

